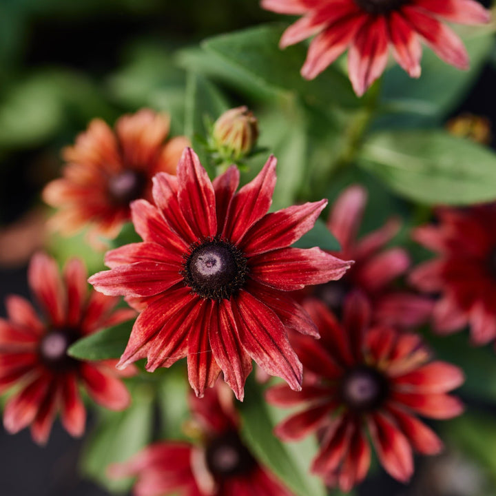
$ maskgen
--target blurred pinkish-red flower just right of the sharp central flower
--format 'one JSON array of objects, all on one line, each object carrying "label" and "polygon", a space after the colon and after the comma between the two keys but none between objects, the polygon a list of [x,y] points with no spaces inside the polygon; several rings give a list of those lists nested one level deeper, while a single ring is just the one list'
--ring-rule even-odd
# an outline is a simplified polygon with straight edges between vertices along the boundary
[{"label": "blurred pinkish-red flower just right of the sharp central flower", "polygon": [[366,190],[353,185],[335,201],[327,223],[341,245],[335,255],[355,263],[341,280],[315,287],[313,292],[340,315],[345,296],[360,289],[371,300],[374,322],[395,327],[423,324],[431,316],[433,302],[397,288],[395,282],[409,268],[410,258],[402,248],[385,248],[400,229],[399,221],[391,218],[380,229],[362,238],[357,236],[366,198]]}]

